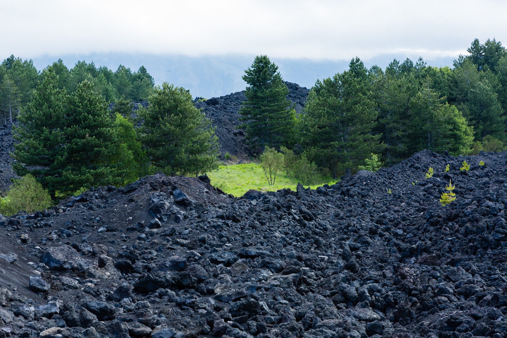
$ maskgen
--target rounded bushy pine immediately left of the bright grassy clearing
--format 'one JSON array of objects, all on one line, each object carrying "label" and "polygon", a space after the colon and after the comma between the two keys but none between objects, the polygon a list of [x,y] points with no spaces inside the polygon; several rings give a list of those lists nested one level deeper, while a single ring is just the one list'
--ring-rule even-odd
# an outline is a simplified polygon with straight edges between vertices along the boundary
[{"label": "rounded bushy pine immediately left of the bright grassy clearing", "polygon": [[149,101],[148,109],[139,110],[139,132],[154,165],[171,175],[197,176],[218,168],[218,138],[190,91],[164,83]]}]

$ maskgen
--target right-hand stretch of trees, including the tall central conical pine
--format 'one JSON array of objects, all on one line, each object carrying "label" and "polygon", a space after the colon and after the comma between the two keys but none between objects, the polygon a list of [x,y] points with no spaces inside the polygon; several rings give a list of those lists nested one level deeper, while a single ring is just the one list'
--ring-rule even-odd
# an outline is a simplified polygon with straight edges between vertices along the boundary
[{"label": "right-hand stretch of trees, including the tall central conical pine", "polygon": [[334,177],[368,167],[377,154],[389,165],[422,149],[503,151],[507,52],[494,39],[476,39],[467,51],[453,68],[407,58],[367,69],[354,58],[348,70],[315,83],[299,117],[285,99],[278,67],[259,56],[243,77],[249,86],[240,114],[248,142],[261,150],[293,149]]}]

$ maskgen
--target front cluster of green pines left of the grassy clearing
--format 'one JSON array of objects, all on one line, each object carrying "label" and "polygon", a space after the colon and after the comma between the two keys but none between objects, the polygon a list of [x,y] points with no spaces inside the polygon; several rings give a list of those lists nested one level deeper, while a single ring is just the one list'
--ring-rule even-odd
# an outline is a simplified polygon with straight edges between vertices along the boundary
[{"label": "front cluster of green pines left of the grassy clearing", "polygon": [[122,96],[108,110],[92,80],[72,87],[58,67],[42,71],[13,127],[13,169],[35,177],[53,200],[158,170],[198,175],[218,168],[218,139],[188,90],[166,83],[151,89],[149,108],[132,120],[130,99]]}]

